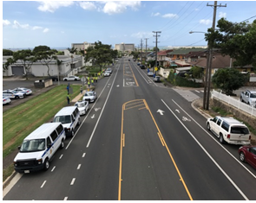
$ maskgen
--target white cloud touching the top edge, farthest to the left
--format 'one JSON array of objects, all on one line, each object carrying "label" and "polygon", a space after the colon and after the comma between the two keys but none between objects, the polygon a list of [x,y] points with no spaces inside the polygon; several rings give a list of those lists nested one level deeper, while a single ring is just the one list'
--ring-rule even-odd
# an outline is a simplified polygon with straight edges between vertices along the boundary
[{"label": "white cloud touching the top edge, farthest to the left", "polygon": [[70,5],[74,4],[74,2],[69,1],[41,1],[39,3],[41,3],[41,5],[37,8],[38,10],[41,10],[43,12],[49,11],[51,13],[54,13],[57,9],[61,7],[69,7]]}]

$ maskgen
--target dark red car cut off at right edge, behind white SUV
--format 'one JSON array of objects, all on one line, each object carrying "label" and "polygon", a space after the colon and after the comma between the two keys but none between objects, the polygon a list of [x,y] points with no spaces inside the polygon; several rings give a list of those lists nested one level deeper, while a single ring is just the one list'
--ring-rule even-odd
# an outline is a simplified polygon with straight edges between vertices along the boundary
[{"label": "dark red car cut off at right edge, behind white SUV", "polygon": [[247,162],[256,168],[256,146],[245,145],[239,149],[240,161]]}]

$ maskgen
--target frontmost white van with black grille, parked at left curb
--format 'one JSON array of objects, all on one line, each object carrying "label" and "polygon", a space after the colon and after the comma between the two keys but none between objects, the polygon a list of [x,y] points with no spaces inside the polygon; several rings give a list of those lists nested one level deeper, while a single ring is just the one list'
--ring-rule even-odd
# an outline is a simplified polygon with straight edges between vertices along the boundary
[{"label": "frontmost white van with black grille, parked at left curb", "polygon": [[61,123],[43,124],[30,133],[18,147],[14,168],[18,173],[47,170],[56,150],[64,147],[65,130]]}]

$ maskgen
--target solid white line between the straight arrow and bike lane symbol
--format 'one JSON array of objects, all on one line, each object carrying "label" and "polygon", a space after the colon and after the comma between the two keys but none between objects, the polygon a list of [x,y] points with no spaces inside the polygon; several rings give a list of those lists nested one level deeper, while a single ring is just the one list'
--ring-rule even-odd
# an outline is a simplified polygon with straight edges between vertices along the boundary
[{"label": "solid white line between the straight arrow and bike lane symbol", "polygon": [[233,185],[233,187],[236,188],[236,190],[244,197],[245,200],[249,200],[249,199],[246,197],[246,194],[244,194],[244,193],[240,190],[240,187],[238,187],[238,186],[233,182],[233,180],[228,176],[228,174],[226,174],[226,172],[220,167],[220,165],[219,165],[219,164],[213,159],[213,157],[207,152],[207,149],[205,149],[205,148],[200,144],[200,142],[194,137],[194,135],[187,129],[187,127],[185,126],[185,124],[183,124],[183,123],[181,122],[180,118],[177,117],[177,116],[174,114],[174,111],[172,111],[172,110],[170,109],[170,107],[169,107],[162,99],[161,99],[161,101],[162,101],[162,103],[163,103],[164,105],[167,106],[167,109],[172,112],[172,114],[174,115],[174,117],[176,117],[177,120],[183,125],[183,127],[187,130],[187,132],[190,134],[190,136],[192,136],[192,137],[194,138],[194,141],[195,141],[196,143],[198,143],[198,145],[200,146],[200,148],[203,149],[203,151],[206,153],[206,155],[208,155],[208,157],[212,160],[212,162],[215,164],[215,166],[220,169],[221,173],[226,176],[226,179],[231,182],[231,184]]}]

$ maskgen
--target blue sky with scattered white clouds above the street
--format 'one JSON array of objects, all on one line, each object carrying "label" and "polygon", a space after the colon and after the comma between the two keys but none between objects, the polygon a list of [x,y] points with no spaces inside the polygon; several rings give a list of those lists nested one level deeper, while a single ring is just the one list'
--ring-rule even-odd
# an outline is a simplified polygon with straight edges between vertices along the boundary
[{"label": "blue sky with scattered white clouds above the street", "polygon": [[[208,4],[208,6],[207,6]],[[135,47],[206,46],[213,1],[3,1],[3,48],[71,48],[102,41]],[[256,19],[256,1],[218,1],[216,25]],[[226,7],[223,7],[225,6]],[[189,34],[190,31],[198,33]]]}]

